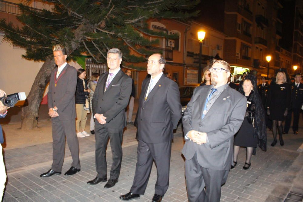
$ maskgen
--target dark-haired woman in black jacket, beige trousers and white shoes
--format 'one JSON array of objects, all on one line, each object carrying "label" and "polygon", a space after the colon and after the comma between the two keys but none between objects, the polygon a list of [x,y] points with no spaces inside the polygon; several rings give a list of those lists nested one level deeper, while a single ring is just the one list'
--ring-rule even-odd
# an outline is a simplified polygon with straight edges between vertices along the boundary
[{"label": "dark-haired woman in black jacket, beige trousers and white shoes", "polygon": [[82,68],[78,69],[77,75],[78,78],[77,78],[77,87],[75,93],[76,113],[77,113],[76,131],[77,131],[77,137],[86,137],[89,136],[89,134],[85,131],[86,116],[87,116],[87,110],[85,110],[85,100],[88,99],[90,90],[87,88],[87,80],[85,79],[86,77],[85,70]]}]

